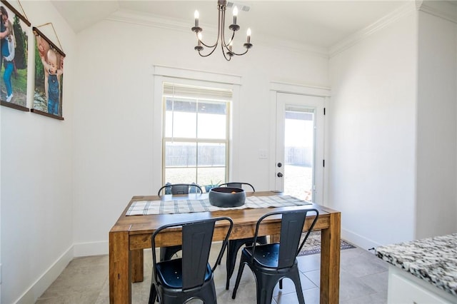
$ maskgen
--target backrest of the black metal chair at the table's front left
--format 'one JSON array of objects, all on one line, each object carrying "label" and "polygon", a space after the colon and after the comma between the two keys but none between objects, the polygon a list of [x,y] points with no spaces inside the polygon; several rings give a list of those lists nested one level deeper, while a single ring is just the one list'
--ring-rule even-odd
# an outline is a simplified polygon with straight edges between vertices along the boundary
[{"label": "backrest of the black metal chair at the table's front left", "polygon": [[[183,290],[195,288],[204,283],[206,267],[208,265],[211,243],[213,240],[214,226],[216,222],[228,221],[226,235],[222,243],[219,255],[211,268],[214,271],[224,255],[229,235],[233,228],[233,221],[229,217],[209,218],[200,221],[190,221],[184,223],[173,223],[161,226],[154,231],[151,236],[151,247],[153,255],[153,269],[156,269],[156,235],[169,228],[182,228],[182,282]],[[154,271],[155,279],[156,271]]]}]

